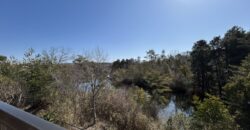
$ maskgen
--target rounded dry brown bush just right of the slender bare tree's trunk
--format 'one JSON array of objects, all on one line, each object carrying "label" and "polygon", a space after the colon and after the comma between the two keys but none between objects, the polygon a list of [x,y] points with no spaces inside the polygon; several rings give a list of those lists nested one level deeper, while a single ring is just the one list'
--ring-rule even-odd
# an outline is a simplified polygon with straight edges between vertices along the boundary
[{"label": "rounded dry brown bush just right of the slender bare tree's trunk", "polygon": [[140,105],[125,89],[103,93],[97,106],[100,120],[119,130],[150,130],[156,127],[153,119],[144,114]]}]

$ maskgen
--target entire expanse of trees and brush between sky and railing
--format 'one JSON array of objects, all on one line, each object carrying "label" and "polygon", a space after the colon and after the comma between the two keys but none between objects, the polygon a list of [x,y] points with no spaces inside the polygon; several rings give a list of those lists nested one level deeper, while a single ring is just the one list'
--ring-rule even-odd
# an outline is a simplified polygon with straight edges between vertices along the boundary
[{"label": "entire expanse of trees and brush between sky and railing", "polygon": [[99,48],[1,54],[0,100],[70,130],[249,130],[250,31],[113,63]]}]

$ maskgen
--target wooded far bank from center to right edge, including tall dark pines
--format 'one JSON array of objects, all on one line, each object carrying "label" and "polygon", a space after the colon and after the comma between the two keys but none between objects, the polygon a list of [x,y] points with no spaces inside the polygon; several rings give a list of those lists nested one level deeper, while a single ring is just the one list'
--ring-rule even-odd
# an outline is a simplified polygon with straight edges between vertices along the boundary
[{"label": "wooded far bank from center to right edge, including tall dark pines", "polygon": [[229,107],[241,128],[250,129],[249,53],[250,32],[234,26],[223,37],[195,42],[191,52],[166,56],[150,50],[143,61],[117,60],[112,72],[117,86],[138,86],[160,103],[167,101],[169,92],[198,95],[201,101],[219,97],[216,100]]}]

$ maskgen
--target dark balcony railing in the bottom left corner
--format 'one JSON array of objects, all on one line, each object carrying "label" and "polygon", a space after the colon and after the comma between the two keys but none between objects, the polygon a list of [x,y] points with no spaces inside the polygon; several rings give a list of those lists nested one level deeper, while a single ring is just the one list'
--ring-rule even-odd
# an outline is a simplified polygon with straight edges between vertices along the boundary
[{"label": "dark balcony railing in the bottom left corner", "polygon": [[0,130],[65,130],[0,101]]}]

